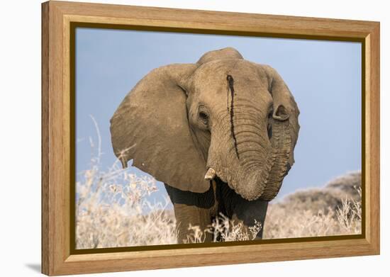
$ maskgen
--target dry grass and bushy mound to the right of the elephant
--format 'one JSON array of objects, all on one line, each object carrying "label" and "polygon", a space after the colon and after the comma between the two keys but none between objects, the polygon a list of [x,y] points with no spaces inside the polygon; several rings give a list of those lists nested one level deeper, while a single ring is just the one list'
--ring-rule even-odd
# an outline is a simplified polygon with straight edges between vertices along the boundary
[{"label": "dry grass and bushy mound to the right of the elephant", "polygon": [[360,171],[340,176],[324,188],[296,191],[271,203],[264,239],[360,234]]}]

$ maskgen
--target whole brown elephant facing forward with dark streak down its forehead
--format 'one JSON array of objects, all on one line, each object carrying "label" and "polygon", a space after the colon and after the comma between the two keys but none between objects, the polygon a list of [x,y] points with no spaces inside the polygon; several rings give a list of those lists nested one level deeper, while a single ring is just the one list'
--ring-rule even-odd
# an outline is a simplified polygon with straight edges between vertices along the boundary
[{"label": "whole brown elephant facing forward with dark streak down its forehead", "polygon": [[[299,108],[269,65],[233,47],[196,63],[153,69],[111,118],[113,152],[165,183],[178,242],[222,213],[243,228],[262,223],[294,164]],[[205,242],[212,241],[208,235]]]}]

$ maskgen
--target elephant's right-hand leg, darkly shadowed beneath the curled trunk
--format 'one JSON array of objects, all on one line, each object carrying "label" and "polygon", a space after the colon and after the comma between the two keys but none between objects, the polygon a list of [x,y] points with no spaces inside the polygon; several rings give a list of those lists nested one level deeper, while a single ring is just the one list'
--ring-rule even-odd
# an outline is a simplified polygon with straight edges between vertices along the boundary
[{"label": "elephant's right-hand leg, darkly shadowed beneath the curled trunk", "polygon": [[255,239],[261,239],[264,230],[265,215],[267,214],[268,201],[253,200],[248,201],[243,198],[236,198],[233,208],[232,220],[243,224],[243,232],[252,236],[249,227],[260,222],[261,229]]}]

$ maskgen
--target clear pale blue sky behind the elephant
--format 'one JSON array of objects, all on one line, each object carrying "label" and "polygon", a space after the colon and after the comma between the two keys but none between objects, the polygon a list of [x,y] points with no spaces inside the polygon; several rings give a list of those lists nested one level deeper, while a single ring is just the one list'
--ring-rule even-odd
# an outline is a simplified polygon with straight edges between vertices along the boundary
[{"label": "clear pale blue sky behind the elephant", "polygon": [[[89,115],[99,125],[105,169],[116,159],[109,120],[128,91],[155,67],[196,62],[204,52],[223,47],[277,69],[301,111],[296,162],[278,197],[361,169],[360,43],[77,28],[77,172],[89,168],[89,137],[97,141]],[[155,197],[161,198],[166,192],[158,186]]]}]

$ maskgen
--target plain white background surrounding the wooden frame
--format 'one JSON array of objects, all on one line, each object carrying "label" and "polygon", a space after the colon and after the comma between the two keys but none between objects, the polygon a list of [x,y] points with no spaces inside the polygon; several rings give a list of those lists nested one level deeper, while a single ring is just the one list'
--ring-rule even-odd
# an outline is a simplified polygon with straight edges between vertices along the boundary
[{"label": "plain white background surrounding the wooden frame", "polygon": [[[87,0],[84,0],[87,1]],[[381,21],[381,256],[209,266],[103,276],[384,276],[390,261],[389,9],[386,1],[128,0],[111,4]],[[1,2],[1,276],[40,274],[40,1]],[[230,275],[232,274],[232,275]],[[97,276],[97,275],[96,275]],[[102,276],[102,275],[100,275]]]}]

